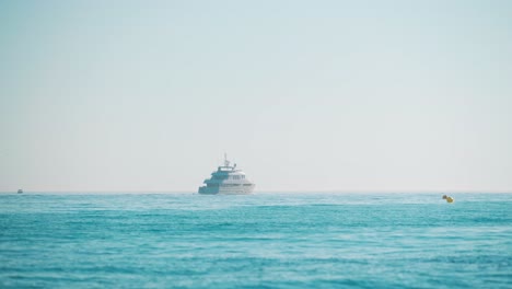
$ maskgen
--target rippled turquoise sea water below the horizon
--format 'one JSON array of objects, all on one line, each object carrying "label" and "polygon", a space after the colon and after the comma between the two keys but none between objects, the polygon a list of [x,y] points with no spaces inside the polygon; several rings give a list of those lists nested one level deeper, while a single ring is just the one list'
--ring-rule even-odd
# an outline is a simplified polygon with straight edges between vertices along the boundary
[{"label": "rippled turquoise sea water below the horizon", "polygon": [[512,194],[0,194],[0,288],[512,288]]}]

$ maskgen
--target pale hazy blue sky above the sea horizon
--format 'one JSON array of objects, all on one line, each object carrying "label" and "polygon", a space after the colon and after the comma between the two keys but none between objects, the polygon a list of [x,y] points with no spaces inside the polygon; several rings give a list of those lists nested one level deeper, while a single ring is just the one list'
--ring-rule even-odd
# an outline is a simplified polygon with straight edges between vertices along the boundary
[{"label": "pale hazy blue sky above the sea horizon", "polygon": [[0,190],[512,192],[512,1],[0,0]]}]

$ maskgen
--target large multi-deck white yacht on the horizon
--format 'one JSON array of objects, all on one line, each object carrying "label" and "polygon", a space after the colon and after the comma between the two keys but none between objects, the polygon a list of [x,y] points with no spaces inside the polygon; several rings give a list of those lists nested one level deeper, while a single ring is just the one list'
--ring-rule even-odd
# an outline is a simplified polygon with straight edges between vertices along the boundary
[{"label": "large multi-deck white yacht on the horizon", "polygon": [[199,194],[205,195],[247,195],[253,193],[255,184],[245,178],[245,173],[236,169],[236,163],[230,165],[224,153],[224,165],[220,165],[211,177],[205,180],[206,185],[199,187]]}]

